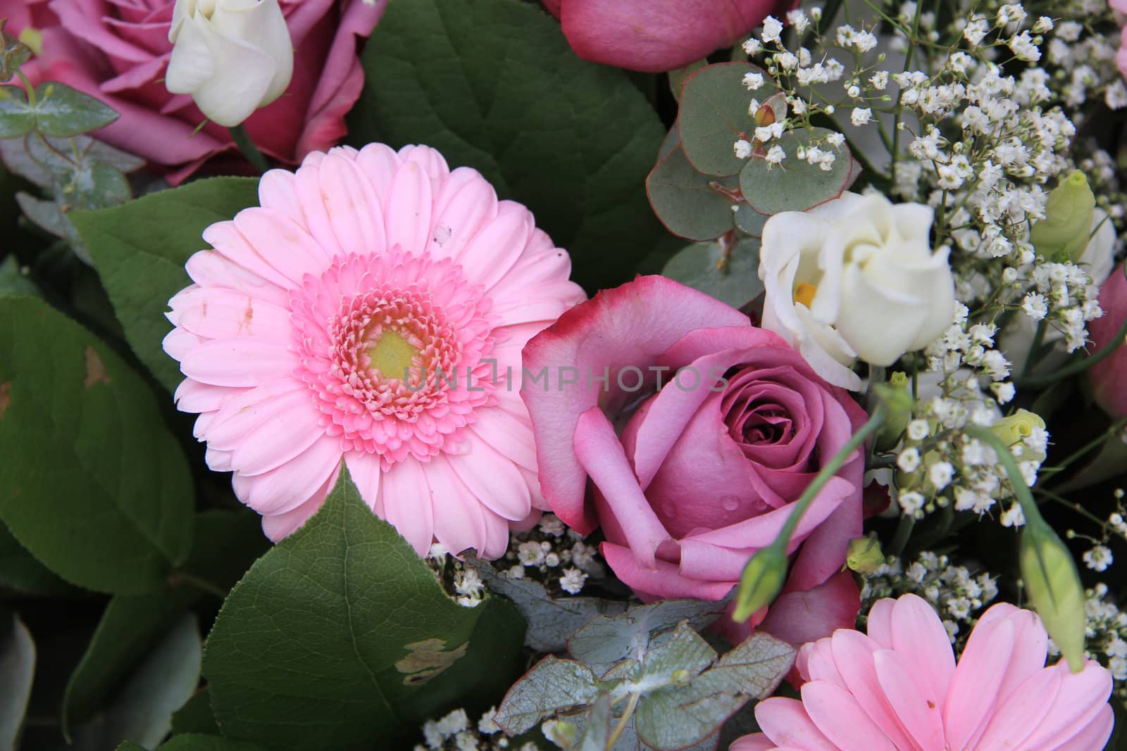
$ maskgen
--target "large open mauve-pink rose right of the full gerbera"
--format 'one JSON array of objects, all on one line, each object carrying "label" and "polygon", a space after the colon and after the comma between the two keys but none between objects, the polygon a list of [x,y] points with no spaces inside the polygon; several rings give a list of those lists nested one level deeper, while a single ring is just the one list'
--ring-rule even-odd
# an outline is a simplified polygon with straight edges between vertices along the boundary
[{"label": "large open mauve-pink rose right of the full gerbera", "polygon": [[[780,337],[659,276],[564,313],[524,368],[544,499],[580,533],[602,526],[606,562],[644,600],[724,598],[866,421]],[[852,628],[859,593],[841,570],[863,473],[859,452],[814,499],[782,594],[751,625],[796,644]]]}]

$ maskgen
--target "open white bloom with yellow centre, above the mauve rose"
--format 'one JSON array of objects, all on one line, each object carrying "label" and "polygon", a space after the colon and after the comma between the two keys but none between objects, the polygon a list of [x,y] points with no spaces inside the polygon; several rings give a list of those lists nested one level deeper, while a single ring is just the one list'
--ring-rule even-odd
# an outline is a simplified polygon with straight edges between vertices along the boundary
[{"label": "open white bloom with yellow centre, above the mauve rose", "polygon": [[827,382],[857,391],[860,357],[888,366],[951,324],[948,251],[932,252],[932,209],[845,193],[763,226],[763,325]]}]

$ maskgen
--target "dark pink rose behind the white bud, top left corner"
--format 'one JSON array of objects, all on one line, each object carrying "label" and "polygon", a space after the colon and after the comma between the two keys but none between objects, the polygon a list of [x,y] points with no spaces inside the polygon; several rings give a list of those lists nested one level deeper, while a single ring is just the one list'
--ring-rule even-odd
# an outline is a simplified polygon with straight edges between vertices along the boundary
[{"label": "dark pink rose behind the white bud, top left corner", "polygon": [[[296,163],[326,151],[346,133],[345,114],[360,97],[364,71],[358,38],[372,33],[387,0],[279,0],[294,44],[286,93],[246,122],[267,154]],[[62,81],[98,97],[121,118],[96,135],[169,168],[178,184],[208,159],[238,157],[227,128],[204,122],[192,97],[165,88],[172,45],[174,0],[0,0],[7,30],[43,32],[42,54],[25,65],[33,83]]]}]

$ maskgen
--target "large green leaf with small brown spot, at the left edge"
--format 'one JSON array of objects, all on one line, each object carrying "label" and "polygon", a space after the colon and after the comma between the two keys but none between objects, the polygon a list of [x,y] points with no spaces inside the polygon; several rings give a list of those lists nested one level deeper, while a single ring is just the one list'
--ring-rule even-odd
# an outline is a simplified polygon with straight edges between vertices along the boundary
[{"label": "large green leaf with small brown spot, at the left edge", "polygon": [[34,297],[0,297],[0,519],[63,579],[139,594],[192,544],[193,486],[144,382]]}]

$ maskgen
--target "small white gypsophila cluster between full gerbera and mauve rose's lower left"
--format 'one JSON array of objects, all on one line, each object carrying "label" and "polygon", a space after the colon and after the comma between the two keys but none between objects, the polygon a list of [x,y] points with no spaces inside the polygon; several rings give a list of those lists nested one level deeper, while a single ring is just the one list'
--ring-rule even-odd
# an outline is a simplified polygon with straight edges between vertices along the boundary
[{"label": "small white gypsophila cluster between full gerbera and mauve rose's lower left", "polygon": [[578,594],[588,576],[606,575],[596,560],[598,549],[584,542],[583,535],[568,528],[559,517],[545,513],[532,529],[514,534],[508,552],[497,569],[509,579],[533,579],[549,592]]}]

